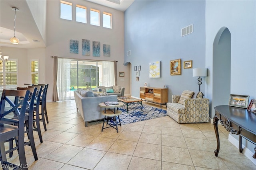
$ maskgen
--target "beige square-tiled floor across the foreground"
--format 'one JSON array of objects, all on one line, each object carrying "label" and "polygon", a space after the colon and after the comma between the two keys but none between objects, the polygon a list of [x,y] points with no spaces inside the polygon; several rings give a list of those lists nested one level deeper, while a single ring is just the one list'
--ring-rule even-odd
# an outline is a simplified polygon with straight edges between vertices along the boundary
[{"label": "beige square-tiled floor across the foreground", "polygon": [[[26,146],[29,170],[255,170],[219,128],[220,152],[211,123],[178,124],[169,116],[101,132],[102,121],[84,127],[74,100],[47,103],[43,143],[34,132],[38,160]],[[42,128],[42,126],[41,126]],[[17,152],[10,162],[18,164]]]}]

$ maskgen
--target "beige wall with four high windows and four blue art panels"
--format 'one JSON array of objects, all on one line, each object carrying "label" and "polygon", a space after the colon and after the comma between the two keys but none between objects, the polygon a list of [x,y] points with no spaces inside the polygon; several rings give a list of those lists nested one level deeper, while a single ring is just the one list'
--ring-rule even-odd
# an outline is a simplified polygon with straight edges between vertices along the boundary
[{"label": "beige wall with four high windows and four blue art panels", "polygon": [[[129,90],[129,67],[124,66],[124,13],[94,4],[83,0],[68,1],[73,4],[75,11],[76,4],[87,7],[87,23],[60,19],[60,1],[47,1],[47,47],[45,51],[45,83],[49,84],[48,100],[52,97],[53,88],[53,58],[58,56],[72,59],[88,59],[98,61],[118,61],[117,71],[125,72],[124,77],[119,77],[117,84],[125,87],[125,94]],[[100,10],[100,25],[90,25],[90,8]],[[112,29],[102,27],[102,12],[112,14]],[[72,54],[69,51],[70,39],[79,41],[79,53]],[[82,39],[90,40],[90,56],[82,55]],[[100,57],[92,56],[92,41],[100,41]],[[110,45],[110,57],[103,56],[103,44]],[[40,81],[43,81],[40,78]]]}]

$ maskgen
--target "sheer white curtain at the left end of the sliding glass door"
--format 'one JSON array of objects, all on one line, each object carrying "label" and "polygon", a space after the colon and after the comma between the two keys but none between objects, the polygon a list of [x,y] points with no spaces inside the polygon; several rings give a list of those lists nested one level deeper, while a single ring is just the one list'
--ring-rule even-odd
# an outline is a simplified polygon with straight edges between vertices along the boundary
[{"label": "sheer white curtain at the left end of the sliding glass door", "polygon": [[70,100],[71,59],[58,58],[57,90],[59,100]]}]

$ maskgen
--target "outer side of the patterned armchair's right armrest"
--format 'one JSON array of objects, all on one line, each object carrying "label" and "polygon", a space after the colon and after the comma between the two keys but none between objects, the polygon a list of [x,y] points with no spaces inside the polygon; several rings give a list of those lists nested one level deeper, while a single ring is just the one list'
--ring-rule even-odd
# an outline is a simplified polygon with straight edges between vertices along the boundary
[{"label": "outer side of the patterned armchair's right armrest", "polygon": [[184,107],[186,113],[203,113],[209,116],[210,101],[209,99],[185,99]]}]

